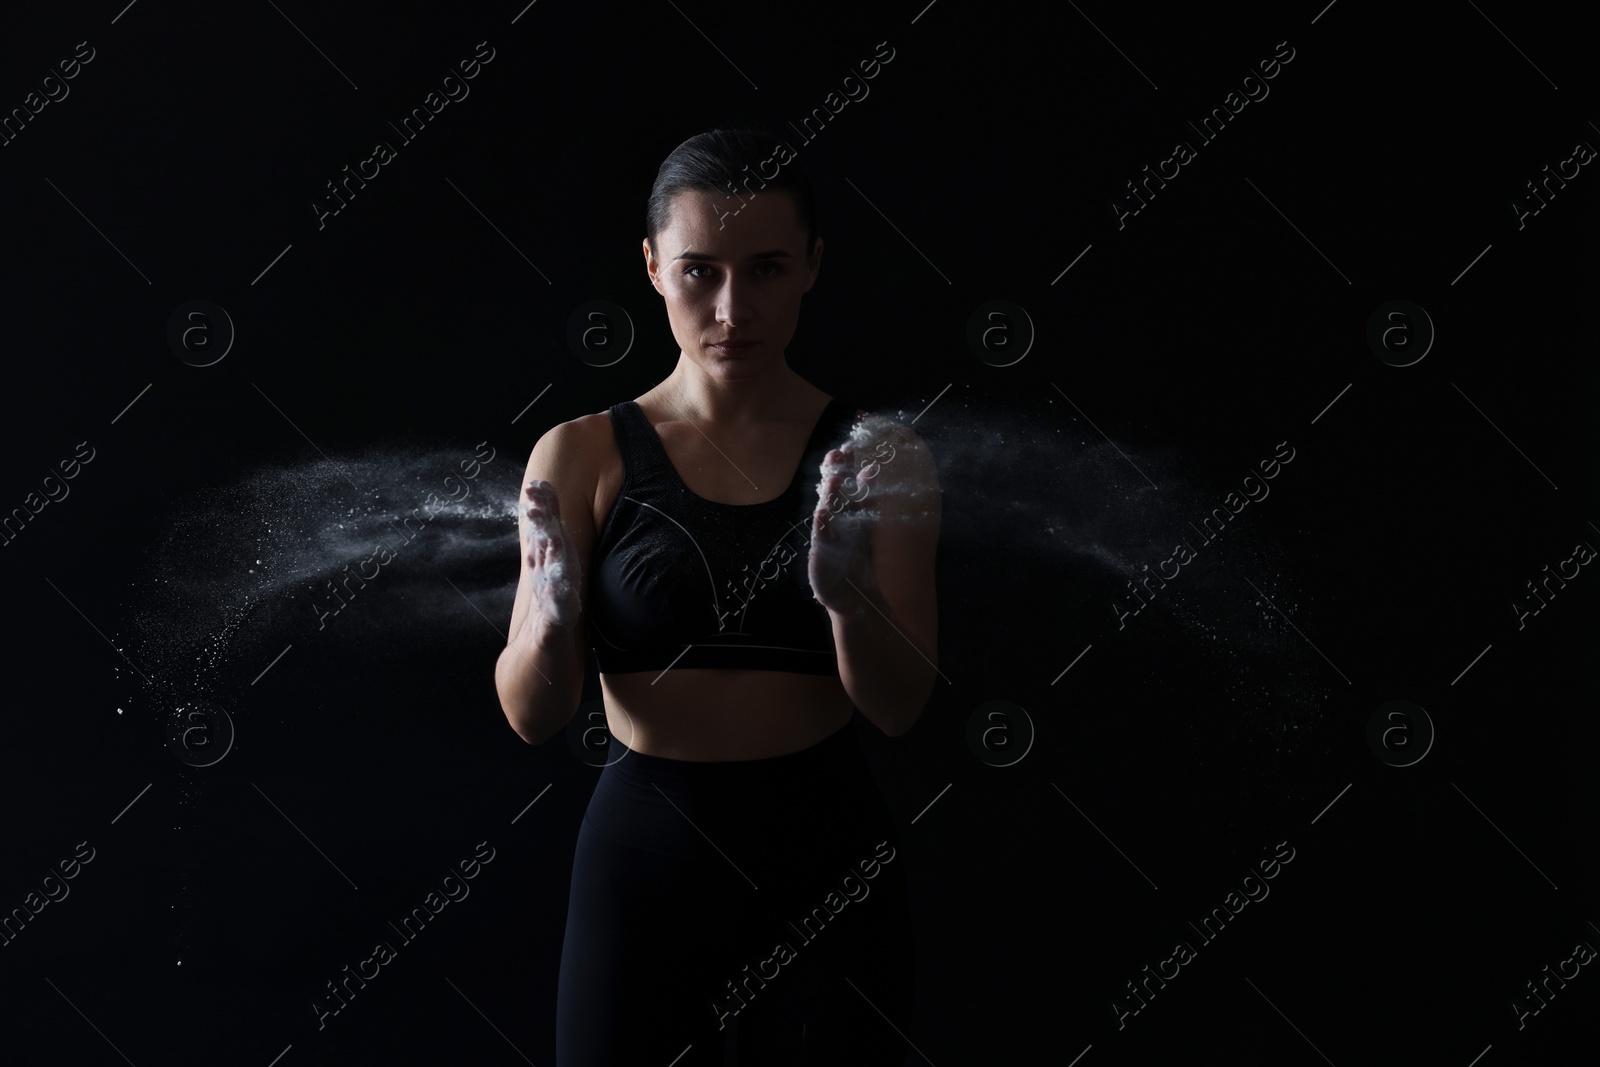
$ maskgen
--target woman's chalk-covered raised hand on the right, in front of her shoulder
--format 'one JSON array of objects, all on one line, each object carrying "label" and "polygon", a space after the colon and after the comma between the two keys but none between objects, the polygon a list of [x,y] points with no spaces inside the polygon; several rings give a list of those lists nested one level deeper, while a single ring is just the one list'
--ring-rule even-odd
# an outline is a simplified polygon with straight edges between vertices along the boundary
[{"label": "woman's chalk-covered raised hand on the right, in front of her shoulder", "polygon": [[872,574],[877,514],[862,502],[872,491],[878,464],[869,462],[851,475],[856,450],[850,443],[830,450],[824,462],[827,474],[811,514],[811,595],[829,611],[853,611],[877,585]]}]

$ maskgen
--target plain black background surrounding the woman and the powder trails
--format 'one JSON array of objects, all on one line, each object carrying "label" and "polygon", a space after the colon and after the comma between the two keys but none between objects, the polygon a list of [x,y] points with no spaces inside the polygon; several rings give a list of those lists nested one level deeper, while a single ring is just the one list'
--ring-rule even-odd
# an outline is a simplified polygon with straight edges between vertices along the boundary
[{"label": "plain black background surrounding the woman and the powder trails", "polygon": [[[78,841],[96,849],[0,947],[8,1062],[554,1062],[597,771],[560,739],[526,747],[499,712],[509,518],[504,560],[469,585],[493,625],[440,632],[382,592],[371,624],[315,637],[261,613],[205,664],[237,728],[211,766],[166,739],[186,667],[134,661],[168,672],[141,681],[123,635],[198,493],[317,450],[467,456],[482,440],[515,486],[546,429],[661,381],[675,346],[638,251],[661,158],[715,125],[797,120],[885,40],[870,96],[795,141],[827,256],[789,355],[830,394],[917,416],[944,458],[944,677],[904,737],[856,723],[906,841],[906,1062],[1466,1067],[1590,1049],[1592,966],[1523,1029],[1510,1006],[1576,942],[1600,945],[1600,579],[1584,568],[1523,629],[1510,608],[1542,566],[1600,544],[1600,178],[1584,166],[1522,229],[1510,206],[1578,141],[1600,144],[1590,43],[1560,6],[1318,11],[6,13],[6,110],[77,42],[96,50],[0,147],[0,509],[78,442],[96,450],[70,498],[0,549],[0,909]],[[318,229],[325,182],[395,142],[387,122],[485,40],[470,96]],[[1270,94],[1198,146],[1186,120],[1278,42],[1294,58]],[[1197,158],[1118,229],[1110,200],[1176,139]],[[194,299],[237,328],[206,368],[166,344]],[[638,330],[613,366],[566,346],[590,299]],[[989,299],[1032,318],[1019,363],[966,347]],[[1366,342],[1394,299],[1437,330],[1405,368]],[[1022,523],[1070,523],[1082,502],[1048,462],[992,458],[1006,434],[1058,427],[1061,450],[1109,437],[1130,453],[1094,506],[1125,502],[1162,544],[1288,440],[1272,498],[1237,520],[1277,545],[1282,585],[1222,547],[1192,566],[1213,568],[1224,592],[1202,606],[1240,646],[1282,630],[1261,593],[1294,597],[1298,637],[1274,648],[1293,643],[1309,678],[1240,701],[1235,667],[1170,614],[1178,584],[1118,630],[1107,605],[1131,573],[1037,550]],[[1162,510],[1171,483],[1152,490],[1141,453],[1214,493]],[[1037,728],[1010,768],[966,741],[992,699]],[[1437,729],[1413,766],[1366,742],[1390,699]],[[478,841],[496,853],[472,896],[318,1030],[323,982]],[[1187,921],[1278,841],[1296,851],[1270,896],[1118,1030],[1123,984],[1194,941]]]}]

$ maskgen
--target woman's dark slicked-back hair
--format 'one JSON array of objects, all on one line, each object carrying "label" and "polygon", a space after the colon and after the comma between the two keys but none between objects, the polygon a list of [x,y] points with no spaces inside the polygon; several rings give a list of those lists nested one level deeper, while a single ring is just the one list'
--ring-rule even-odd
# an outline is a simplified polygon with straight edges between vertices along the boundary
[{"label": "woman's dark slicked-back hair", "polygon": [[[762,165],[774,163],[779,146],[789,162],[778,165],[774,178],[766,178]],[[698,133],[661,162],[656,184],[650,187],[645,235],[654,248],[656,237],[672,221],[672,198],[680,192],[720,192],[731,198],[736,192],[747,197],[752,190],[762,194],[774,189],[794,197],[795,213],[806,232],[805,254],[810,258],[816,248],[816,197],[794,149],[782,138],[754,128]]]}]

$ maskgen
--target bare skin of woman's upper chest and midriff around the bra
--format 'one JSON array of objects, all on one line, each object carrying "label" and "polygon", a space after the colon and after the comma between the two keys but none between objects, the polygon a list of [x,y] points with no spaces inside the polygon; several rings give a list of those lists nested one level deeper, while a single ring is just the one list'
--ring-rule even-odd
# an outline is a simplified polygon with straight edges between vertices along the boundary
[{"label": "bare skin of woman's upper chest and midriff around the bra", "polygon": [[[677,478],[696,496],[715,504],[752,506],[789,486],[797,462],[829,405],[811,389],[803,418],[784,424],[718,432],[677,421],[656,390],[635,403],[658,432]],[[610,413],[584,418],[595,454],[594,530],[598,545],[618,504],[624,461]],[[798,472],[810,506],[811,482]],[[754,483],[754,485],[752,485]],[[805,531],[806,537],[810,531]],[[594,581],[590,558],[589,584]],[[797,558],[790,566],[806,566]],[[594,638],[594,633],[590,633]],[[853,704],[838,673],[790,670],[734,670],[672,667],[662,670],[602,672],[606,726],[629,749],[675,760],[758,760],[806,749],[845,725]]]}]

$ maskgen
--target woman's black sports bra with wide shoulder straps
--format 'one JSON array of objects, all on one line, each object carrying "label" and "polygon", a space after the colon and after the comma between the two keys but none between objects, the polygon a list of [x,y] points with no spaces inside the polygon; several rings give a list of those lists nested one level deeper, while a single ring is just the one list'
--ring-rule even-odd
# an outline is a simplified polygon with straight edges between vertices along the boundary
[{"label": "woman's black sports bra with wide shoulder straps", "polygon": [[698,496],[635,402],[610,411],[622,490],[595,542],[584,605],[600,672],[838,673],[808,557],[822,458],[850,435],[854,405],[827,402],[789,488],[760,504]]}]

